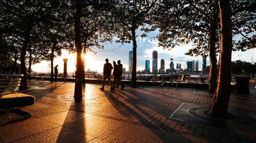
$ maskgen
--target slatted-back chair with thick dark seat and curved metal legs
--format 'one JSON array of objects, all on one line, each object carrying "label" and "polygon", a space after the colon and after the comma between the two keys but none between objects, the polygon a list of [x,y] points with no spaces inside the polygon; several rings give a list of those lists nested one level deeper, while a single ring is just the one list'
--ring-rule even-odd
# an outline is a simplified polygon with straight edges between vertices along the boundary
[{"label": "slatted-back chair with thick dark seat and curved metal legs", "polygon": [[[20,86],[21,79],[17,78],[19,76],[23,75],[0,75],[0,109],[3,109],[5,112],[5,116],[0,122],[6,117],[9,119],[17,119],[32,116],[32,113],[20,109],[22,106],[34,104],[35,97],[15,92]],[[10,111],[13,109],[23,111],[27,114],[18,117],[10,117]]]}]

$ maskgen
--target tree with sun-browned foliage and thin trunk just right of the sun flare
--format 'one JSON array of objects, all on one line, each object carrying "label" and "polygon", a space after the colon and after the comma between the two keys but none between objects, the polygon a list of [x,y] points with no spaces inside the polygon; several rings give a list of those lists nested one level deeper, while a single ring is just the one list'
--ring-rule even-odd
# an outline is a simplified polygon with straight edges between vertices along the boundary
[{"label": "tree with sun-browned foliage and thin trunk just right of the sun flare", "polygon": [[[104,1],[87,1],[84,2],[82,7],[81,17],[81,39],[83,48],[83,84],[85,84],[85,54],[90,51],[96,54],[93,50],[93,46],[99,49],[104,49],[104,46],[100,45],[102,42],[112,41],[113,38],[113,23],[109,16],[109,12],[106,9],[109,3]],[[72,49],[74,52],[74,49]]]}]

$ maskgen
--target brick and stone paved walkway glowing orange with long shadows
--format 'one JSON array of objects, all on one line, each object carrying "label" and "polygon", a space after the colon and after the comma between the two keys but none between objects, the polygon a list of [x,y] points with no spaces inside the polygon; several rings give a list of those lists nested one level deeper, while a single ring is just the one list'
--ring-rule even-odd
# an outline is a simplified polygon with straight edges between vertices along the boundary
[{"label": "brick and stone paved walkway glowing orange with long shadows", "polygon": [[[213,95],[198,89],[127,87],[110,91],[107,86],[101,91],[99,85],[86,84],[85,101],[71,103],[56,99],[72,95],[75,83],[31,81],[28,85],[42,88],[22,91],[36,97],[34,105],[23,108],[33,116],[2,121],[1,143],[256,142],[256,132],[168,119],[182,103],[211,105]],[[255,110],[256,90],[250,92],[236,95],[232,91],[229,107]]]}]

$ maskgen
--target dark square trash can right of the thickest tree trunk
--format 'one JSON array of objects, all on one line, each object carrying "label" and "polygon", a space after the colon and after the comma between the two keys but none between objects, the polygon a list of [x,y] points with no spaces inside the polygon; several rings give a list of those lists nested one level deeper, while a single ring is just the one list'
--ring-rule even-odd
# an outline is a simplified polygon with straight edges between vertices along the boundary
[{"label": "dark square trash can right of the thickest tree trunk", "polygon": [[250,94],[249,80],[250,76],[234,76],[236,81],[236,93]]}]

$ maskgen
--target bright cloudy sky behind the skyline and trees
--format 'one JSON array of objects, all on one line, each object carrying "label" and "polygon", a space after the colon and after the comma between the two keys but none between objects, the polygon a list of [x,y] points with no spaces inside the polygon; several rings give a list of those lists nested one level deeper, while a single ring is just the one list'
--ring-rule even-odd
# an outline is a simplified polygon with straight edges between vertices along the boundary
[{"label": "bright cloudy sky behind the skyline and trees", "polygon": [[[155,37],[158,35],[160,32],[159,31],[154,31],[154,32],[149,32],[148,37]],[[140,30],[136,31],[136,35],[140,35],[142,32]],[[138,37],[139,38],[139,37]],[[233,39],[239,39],[239,36],[233,37]],[[143,38],[143,39],[148,39],[148,38]],[[174,68],[176,68],[177,63],[181,63],[181,68],[186,67],[186,61],[198,61],[199,64],[199,70],[202,70],[202,57],[201,56],[188,56],[185,55],[186,52],[192,47],[192,43],[189,43],[188,45],[183,45],[183,46],[176,46],[171,50],[168,49],[163,49],[163,47],[158,47],[158,41],[157,39],[152,39],[147,40],[147,44],[145,40],[143,42],[140,40],[137,40],[137,71],[138,70],[144,70],[145,69],[145,60],[150,61],[150,71],[152,72],[152,52],[155,50],[158,52],[158,59],[157,59],[157,68],[160,68],[160,61],[161,59],[165,60],[165,69],[169,68],[170,64],[170,59],[173,59],[174,62]],[[107,42],[109,43],[109,42]],[[150,44],[149,44],[150,43]],[[104,43],[102,43],[104,44]],[[154,46],[155,44],[155,46]],[[103,72],[103,65],[105,63],[105,59],[108,58],[109,62],[112,63],[112,61],[121,60],[121,63],[123,64],[123,68],[126,68],[126,71],[128,71],[128,60],[129,60],[129,51],[132,51],[132,43],[125,43],[122,45],[121,43],[112,43],[107,44],[104,46],[104,50],[112,50],[115,49],[116,47],[121,46],[121,48],[117,48],[114,50],[114,52],[109,51],[109,52],[98,52],[97,54],[93,54],[92,52],[88,52],[85,55],[85,70],[88,68],[91,71],[98,71],[98,72]],[[232,52],[232,61],[236,60],[242,60],[242,61],[247,61],[251,62],[251,57],[256,54],[256,49],[251,49],[245,52],[241,51],[236,51]],[[75,54],[69,54],[68,51],[62,50],[62,55],[60,57],[57,57],[54,59],[54,66],[56,64],[59,65],[59,72],[63,72],[63,58],[68,58],[68,73],[74,72],[75,71]],[[219,57],[217,57],[219,59]],[[256,61],[256,58],[255,58]],[[207,57],[206,59],[207,66],[210,66],[210,59]],[[35,72],[47,72],[48,67],[50,64],[50,61],[42,61],[41,63],[32,65],[32,70]]]}]

